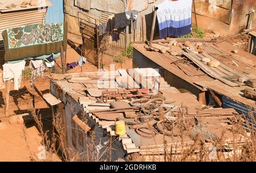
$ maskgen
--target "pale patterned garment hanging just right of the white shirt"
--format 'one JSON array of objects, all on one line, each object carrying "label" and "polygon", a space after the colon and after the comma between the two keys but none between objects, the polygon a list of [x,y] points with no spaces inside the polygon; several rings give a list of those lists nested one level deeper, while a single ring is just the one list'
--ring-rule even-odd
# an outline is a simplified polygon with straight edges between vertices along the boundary
[{"label": "pale patterned garment hanging just right of the white shirt", "polygon": [[44,77],[44,71],[46,70],[46,66],[43,63],[43,60],[31,60],[29,67],[32,74],[30,84],[33,85],[36,78]]}]

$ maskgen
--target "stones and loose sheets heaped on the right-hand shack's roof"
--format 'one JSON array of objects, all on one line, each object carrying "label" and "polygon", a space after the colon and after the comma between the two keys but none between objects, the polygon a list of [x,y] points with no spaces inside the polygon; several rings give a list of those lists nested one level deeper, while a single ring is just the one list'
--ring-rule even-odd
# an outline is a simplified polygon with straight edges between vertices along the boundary
[{"label": "stones and loose sheets heaped on the right-hand shack's roof", "polygon": [[[237,49],[230,50],[229,54],[219,53],[216,40],[199,39],[168,39],[154,41],[150,47],[149,43],[144,44],[147,51],[170,54],[177,58],[171,64],[191,64],[196,65],[208,74],[210,77],[218,79],[228,86],[249,86],[245,92],[245,97],[255,99],[256,91],[256,70],[255,63],[251,66],[243,67],[246,64],[237,61],[240,58],[240,52]],[[221,51],[223,52],[223,51]],[[230,57],[230,58],[229,58]],[[225,59],[225,62],[222,60]],[[227,61],[229,59],[229,61]],[[229,65],[236,68],[231,68]],[[248,71],[251,69],[251,71]],[[250,90],[250,95],[246,94]]]}]

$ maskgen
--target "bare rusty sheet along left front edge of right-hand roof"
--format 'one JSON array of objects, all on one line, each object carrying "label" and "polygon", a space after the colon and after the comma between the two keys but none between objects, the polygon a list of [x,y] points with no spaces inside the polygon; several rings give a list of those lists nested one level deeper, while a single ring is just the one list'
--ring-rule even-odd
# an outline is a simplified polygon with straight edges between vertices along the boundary
[{"label": "bare rusty sheet along left front edge of right-hand roof", "polygon": [[[170,71],[170,73],[176,75],[177,77],[183,79],[184,81],[187,81],[188,83],[195,86],[196,88],[198,88],[201,91],[205,91],[205,90],[202,87],[195,85],[194,82],[214,81],[214,79],[212,79],[208,75],[200,75],[200,76],[191,77],[191,76],[185,74],[184,71],[180,70],[180,68],[177,65],[171,64],[171,62],[176,61],[177,58],[174,56],[171,56],[168,53],[163,54],[163,53],[159,53],[159,52],[147,51],[146,49],[144,49],[144,44],[135,44],[134,43],[132,45],[136,50],[141,52],[145,57],[147,57],[151,61],[155,62],[159,66],[162,66],[164,69]],[[197,71],[197,68],[194,67],[193,65],[191,65],[190,67],[191,67],[191,70],[193,69],[193,70]]]}]

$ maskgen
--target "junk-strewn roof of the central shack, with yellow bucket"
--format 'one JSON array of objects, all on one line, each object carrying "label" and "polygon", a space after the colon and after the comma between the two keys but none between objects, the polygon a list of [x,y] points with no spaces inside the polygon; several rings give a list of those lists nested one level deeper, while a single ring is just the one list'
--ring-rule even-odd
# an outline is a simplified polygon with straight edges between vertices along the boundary
[{"label": "junk-strewn roof of the central shack, with yellow bucket", "polygon": [[[148,75],[143,71],[154,72]],[[104,81],[108,85],[103,85]],[[233,148],[232,125],[238,115],[234,109],[202,107],[195,96],[171,87],[151,68],[52,74],[51,93],[64,104],[72,103],[70,110],[81,107],[89,120],[118,137],[127,153],[149,155],[158,149],[155,154],[163,154],[167,145],[168,151],[178,147],[170,152],[179,154],[198,139],[207,146],[222,139],[223,145]],[[65,115],[65,121],[77,112]],[[245,139],[237,134],[235,143],[242,145]]]}]

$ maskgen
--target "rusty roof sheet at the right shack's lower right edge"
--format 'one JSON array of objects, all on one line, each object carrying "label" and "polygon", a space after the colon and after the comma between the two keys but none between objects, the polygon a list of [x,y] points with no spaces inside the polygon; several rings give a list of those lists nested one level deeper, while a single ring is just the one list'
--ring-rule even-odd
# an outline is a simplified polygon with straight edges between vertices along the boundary
[{"label": "rusty roof sheet at the right shack's lower right edge", "polygon": [[237,102],[240,102],[241,104],[245,104],[248,107],[256,108],[256,104],[254,100],[247,99],[243,97],[243,92],[241,87],[230,87],[228,85],[225,85],[224,83],[215,80],[212,82],[207,81],[201,81],[201,82],[195,82],[197,85],[208,88],[209,90],[216,91],[220,95],[225,95],[228,98],[231,98],[233,100],[236,100]]}]

